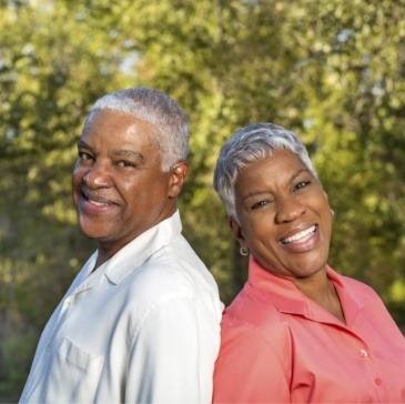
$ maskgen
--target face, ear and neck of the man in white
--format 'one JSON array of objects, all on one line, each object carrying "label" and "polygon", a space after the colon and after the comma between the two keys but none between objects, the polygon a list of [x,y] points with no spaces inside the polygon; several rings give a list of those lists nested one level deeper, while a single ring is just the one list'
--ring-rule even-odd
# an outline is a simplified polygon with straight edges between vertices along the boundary
[{"label": "face, ear and neck of the man in white", "polygon": [[91,113],[78,142],[72,194],[79,223],[110,255],[174,212],[180,190],[173,172],[162,171],[152,131],[130,114],[102,110]]}]

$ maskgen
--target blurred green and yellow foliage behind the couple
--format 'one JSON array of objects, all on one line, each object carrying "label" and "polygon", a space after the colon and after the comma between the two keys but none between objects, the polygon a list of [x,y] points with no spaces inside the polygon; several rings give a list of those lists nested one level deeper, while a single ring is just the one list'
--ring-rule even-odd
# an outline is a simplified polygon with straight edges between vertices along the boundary
[{"label": "blurred green and yellow foliage behind the couple", "polygon": [[212,190],[220,147],[298,133],[335,211],[331,265],[405,323],[404,0],[0,0],[0,401],[95,244],[75,224],[75,141],[100,95],[169,92],[192,129],[184,233],[229,302],[246,262]]}]

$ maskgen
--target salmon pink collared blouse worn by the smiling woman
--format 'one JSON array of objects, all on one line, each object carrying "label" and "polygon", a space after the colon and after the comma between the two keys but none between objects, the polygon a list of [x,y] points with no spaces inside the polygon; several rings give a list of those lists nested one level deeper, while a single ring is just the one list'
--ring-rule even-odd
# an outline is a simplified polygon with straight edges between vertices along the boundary
[{"label": "salmon pink collared blouse worn by the smiling woman", "polygon": [[343,324],[251,257],[222,320],[215,403],[405,403],[405,339],[378,295],[327,267]]}]

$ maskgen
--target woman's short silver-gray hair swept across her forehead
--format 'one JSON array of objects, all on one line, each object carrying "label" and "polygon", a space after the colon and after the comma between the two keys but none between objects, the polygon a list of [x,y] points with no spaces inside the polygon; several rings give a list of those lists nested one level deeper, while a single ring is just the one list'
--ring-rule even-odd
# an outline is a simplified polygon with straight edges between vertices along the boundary
[{"label": "woman's short silver-gray hair swept across her forehead", "polygon": [[214,170],[214,189],[227,215],[237,221],[235,183],[239,172],[250,163],[286,149],[296,154],[310,172],[317,176],[304,143],[292,131],[274,123],[252,123],[237,130],[222,147]]}]

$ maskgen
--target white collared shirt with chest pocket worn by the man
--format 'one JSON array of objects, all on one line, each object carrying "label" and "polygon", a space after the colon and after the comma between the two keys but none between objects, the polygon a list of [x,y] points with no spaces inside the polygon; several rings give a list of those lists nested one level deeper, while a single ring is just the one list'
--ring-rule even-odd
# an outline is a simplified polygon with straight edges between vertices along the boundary
[{"label": "white collared shirt with chest pocket worn by the man", "polygon": [[179,212],[92,272],[49,320],[21,403],[211,403],[223,304]]}]

